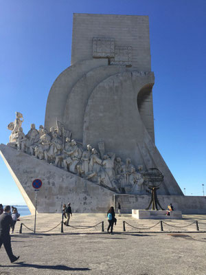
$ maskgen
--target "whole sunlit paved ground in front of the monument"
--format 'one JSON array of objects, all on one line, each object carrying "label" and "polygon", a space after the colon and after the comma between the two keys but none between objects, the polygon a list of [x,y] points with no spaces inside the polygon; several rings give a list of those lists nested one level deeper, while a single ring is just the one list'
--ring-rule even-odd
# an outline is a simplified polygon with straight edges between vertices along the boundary
[{"label": "whole sunlit paved ground in front of the monument", "polygon": [[[165,221],[176,226],[185,226],[198,220],[206,232],[206,215],[183,215],[183,220]],[[61,214],[38,214],[36,230],[46,231],[61,221]],[[148,228],[158,220],[137,220],[131,215],[117,216],[113,235],[106,232],[105,214],[73,214],[70,225],[95,225],[95,228],[71,228],[60,225],[50,232],[33,234],[20,223],[34,229],[34,216],[21,218],[12,234],[12,249],[20,255],[17,263],[11,264],[4,248],[0,250],[0,275],[4,274],[137,274],[137,275],[206,275],[206,233],[196,231],[196,223],[183,228],[160,224],[150,230],[130,228],[122,221],[137,228]],[[167,227],[168,226],[168,227]],[[144,232],[143,232],[144,231]],[[177,232],[181,231],[181,232]]]}]

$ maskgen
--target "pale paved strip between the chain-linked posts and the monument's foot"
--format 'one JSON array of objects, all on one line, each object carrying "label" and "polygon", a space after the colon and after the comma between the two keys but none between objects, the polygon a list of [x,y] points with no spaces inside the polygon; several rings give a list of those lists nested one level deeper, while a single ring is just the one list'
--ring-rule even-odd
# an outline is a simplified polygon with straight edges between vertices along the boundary
[{"label": "pale paved strip between the chain-linked posts and the monument's foot", "polygon": [[[124,232],[123,221],[125,221],[126,232],[161,232],[161,224],[159,220],[138,220],[131,214],[122,214],[117,217],[117,225],[114,225],[114,232]],[[37,214],[36,232],[45,232],[58,234],[60,233],[61,214]],[[104,221],[104,230],[108,226],[106,214],[79,214],[73,213],[69,221],[69,227],[63,226],[64,233],[98,233],[102,232],[102,221]],[[163,232],[196,232],[196,221],[200,231],[206,232],[206,216],[205,215],[183,215],[182,220],[163,221]],[[21,218],[21,223],[34,230],[34,215]],[[98,224],[98,225],[97,225]],[[94,226],[96,225],[96,226]],[[17,223],[15,232],[19,232],[20,223]],[[25,226],[22,228],[23,233],[32,232]],[[54,228],[54,229],[53,229]],[[50,231],[51,230],[51,231]]]}]

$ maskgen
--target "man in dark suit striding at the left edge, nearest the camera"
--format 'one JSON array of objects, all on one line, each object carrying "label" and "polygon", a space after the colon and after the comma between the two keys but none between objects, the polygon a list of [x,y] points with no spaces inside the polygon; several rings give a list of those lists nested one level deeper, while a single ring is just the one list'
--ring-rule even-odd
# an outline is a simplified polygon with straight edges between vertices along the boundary
[{"label": "man in dark suit striding at the left edge, nearest the camera", "polygon": [[0,248],[3,244],[11,263],[14,263],[19,259],[19,256],[14,256],[11,247],[10,227],[14,221],[10,216],[10,210],[10,206],[5,206],[3,214],[0,215]]}]

